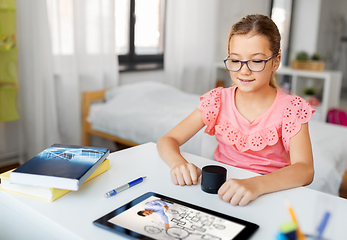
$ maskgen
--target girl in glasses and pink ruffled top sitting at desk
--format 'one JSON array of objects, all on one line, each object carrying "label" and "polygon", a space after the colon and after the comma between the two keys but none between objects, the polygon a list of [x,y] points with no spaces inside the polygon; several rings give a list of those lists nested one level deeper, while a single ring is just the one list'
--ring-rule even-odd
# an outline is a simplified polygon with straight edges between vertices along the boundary
[{"label": "girl in glasses and pink ruffled top sitting at desk", "polygon": [[201,170],[181,156],[179,146],[205,125],[219,142],[215,160],[262,174],[227,180],[218,191],[222,200],[245,206],[262,194],[312,182],[308,121],[314,110],[277,88],[280,40],[267,16],[248,15],[233,25],[224,60],[233,86],[203,95],[198,108],[157,142],[175,184],[198,183]]}]

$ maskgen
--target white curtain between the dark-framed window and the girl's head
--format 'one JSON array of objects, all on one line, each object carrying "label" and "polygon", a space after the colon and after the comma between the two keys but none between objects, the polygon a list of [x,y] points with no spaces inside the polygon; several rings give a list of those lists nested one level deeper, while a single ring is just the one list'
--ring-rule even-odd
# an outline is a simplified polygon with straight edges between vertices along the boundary
[{"label": "white curtain between the dark-framed window and the girl's head", "polygon": [[197,94],[215,86],[218,6],[215,0],[167,0],[164,64],[170,85]]}]

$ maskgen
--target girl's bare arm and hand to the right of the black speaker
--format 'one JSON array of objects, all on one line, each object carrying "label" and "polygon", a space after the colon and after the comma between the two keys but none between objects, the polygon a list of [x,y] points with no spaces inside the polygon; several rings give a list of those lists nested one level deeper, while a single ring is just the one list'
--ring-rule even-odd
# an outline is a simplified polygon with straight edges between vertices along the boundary
[{"label": "girl's bare arm and hand to the right of the black speaker", "polygon": [[314,168],[308,123],[290,139],[289,147],[291,165],[249,179],[229,179],[219,189],[219,197],[232,205],[245,206],[265,193],[310,184]]}]

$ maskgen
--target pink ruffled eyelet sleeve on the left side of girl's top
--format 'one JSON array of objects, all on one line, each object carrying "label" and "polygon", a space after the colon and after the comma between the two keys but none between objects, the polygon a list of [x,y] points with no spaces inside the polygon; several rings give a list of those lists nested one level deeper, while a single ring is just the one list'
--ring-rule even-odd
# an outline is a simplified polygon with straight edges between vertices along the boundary
[{"label": "pink ruffled eyelet sleeve on the left side of girl's top", "polygon": [[202,120],[206,124],[205,133],[215,134],[215,125],[220,110],[222,87],[215,88],[200,97],[199,109],[202,111]]}]

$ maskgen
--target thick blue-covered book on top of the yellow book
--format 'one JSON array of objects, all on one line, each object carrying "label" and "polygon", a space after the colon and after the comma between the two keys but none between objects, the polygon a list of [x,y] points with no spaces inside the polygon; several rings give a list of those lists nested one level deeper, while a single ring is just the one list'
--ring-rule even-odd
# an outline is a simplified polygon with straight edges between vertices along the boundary
[{"label": "thick blue-covered book on top of the yellow book", "polygon": [[10,173],[11,183],[77,191],[110,150],[54,144]]}]

